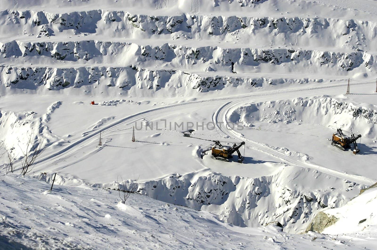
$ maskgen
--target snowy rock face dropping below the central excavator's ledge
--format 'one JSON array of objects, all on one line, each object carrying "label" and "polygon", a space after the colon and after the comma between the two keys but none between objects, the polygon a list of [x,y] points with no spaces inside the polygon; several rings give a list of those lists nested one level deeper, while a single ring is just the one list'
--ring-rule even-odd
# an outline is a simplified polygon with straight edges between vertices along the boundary
[{"label": "snowy rock face dropping below the central excavator's ledge", "polygon": [[[322,178],[331,181],[322,182]],[[302,184],[294,183],[294,179]],[[103,187],[130,190],[133,184]],[[168,203],[213,212],[220,220],[236,226],[258,227],[278,221],[285,232],[297,233],[307,227],[318,210],[342,206],[362,188],[365,186],[313,169],[286,166],[275,175],[259,178],[217,173],[172,175],[138,183],[135,191]]]}]

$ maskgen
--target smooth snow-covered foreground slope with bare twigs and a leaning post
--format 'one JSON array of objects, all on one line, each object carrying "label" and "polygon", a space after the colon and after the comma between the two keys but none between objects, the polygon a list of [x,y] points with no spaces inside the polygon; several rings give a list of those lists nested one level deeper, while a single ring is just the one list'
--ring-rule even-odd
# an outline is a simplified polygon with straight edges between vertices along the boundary
[{"label": "smooth snow-covered foreground slope with bare twigs and a leaning post", "polygon": [[[118,191],[50,185],[31,177],[2,176],[0,247],[2,249],[175,249],[301,247],[316,249],[313,239],[331,248],[332,236],[291,235],[276,224],[260,228],[231,226],[208,212],[153,201],[132,194],[126,204]],[[371,247],[363,236],[344,247]]]}]

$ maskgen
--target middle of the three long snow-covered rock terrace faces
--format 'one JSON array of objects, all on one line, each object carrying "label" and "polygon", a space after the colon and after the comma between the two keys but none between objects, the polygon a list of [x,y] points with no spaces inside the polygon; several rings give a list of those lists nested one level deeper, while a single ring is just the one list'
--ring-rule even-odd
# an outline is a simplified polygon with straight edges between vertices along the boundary
[{"label": "middle of the three long snow-covered rock terrace faces", "polygon": [[[364,66],[371,68],[374,59],[366,52],[329,52],[301,49],[222,49],[221,47],[186,47],[173,44],[162,46],[141,46],[133,43],[77,41],[57,43],[24,43],[12,41],[0,43],[1,55],[4,58],[18,58],[25,56],[48,56],[64,61],[110,61],[113,56],[122,59],[127,55],[134,55],[132,61],[166,61],[189,68],[192,64],[211,63],[218,66],[230,66],[237,63],[241,66],[259,66],[270,64],[298,64],[308,61],[318,68],[323,65],[335,70],[350,71]],[[29,59],[29,58],[28,58]],[[117,60],[117,59],[115,59]]]}]

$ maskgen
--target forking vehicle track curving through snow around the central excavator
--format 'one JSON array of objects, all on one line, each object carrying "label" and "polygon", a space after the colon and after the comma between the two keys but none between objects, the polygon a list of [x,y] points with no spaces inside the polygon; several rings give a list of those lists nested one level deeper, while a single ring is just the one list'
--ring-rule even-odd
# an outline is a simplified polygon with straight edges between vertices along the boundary
[{"label": "forking vehicle track curving through snow around the central excavator", "polygon": [[[365,84],[360,84],[360,85],[367,85],[367,84],[371,84],[371,83],[365,83]],[[41,158],[40,160],[37,160],[34,163],[35,171],[43,170],[44,166],[49,165],[49,164],[52,165],[52,163],[55,163],[56,161],[62,159],[63,157],[69,156],[70,154],[74,154],[75,152],[77,152],[78,149],[83,148],[89,143],[92,143],[94,140],[97,140],[97,137],[100,134],[100,131],[106,131],[106,130],[109,130],[110,128],[114,129],[114,128],[124,126],[124,125],[131,125],[132,123],[135,123],[136,121],[140,119],[155,116],[156,114],[162,114],[169,111],[176,111],[178,109],[186,110],[187,108],[193,108],[197,106],[203,107],[203,105],[207,103],[211,103],[211,104],[219,103],[221,107],[216,111],[215,114],[213,114],[213,117],[212,117],[212,121],[217,126],[219,133],[229,136],[234,139],[244,140],[248,146],[251,146],[254,149],[263,151],[267,154],[273,155],[289,165],[317,169],[329,175],[333,175],[339,178],[344,178],[346,180],[354,181],[356,183],[365,184],[369,186],[375,183],[375,180],[367,178],[367,177],[334,171],[332,169],[324,168],[322,166],[314,165],[314,164],[307,163],[299,159],[295,159],[294,157],[290,157],[288,155],[283,154],[282,152],[279,152],[277,150],[274,150],[268,147],[268,145],[264,145],[263,143],[255,142],[253,140],[247,139],[243,137],[241,134],[239,134],[238,132],[226,128],[224,125],[226,124],[226,115],[228,111],[231,110],[231,108],[238,107],[239,105],[242,105],[242,104],[246,104],[246,103],[250,104],[252,102],[264,101],[267,97],[273,98],[273,99],[281,99],[281,98],[287,99],[291,97],[292,98],[302,97],[303,95],[316,96],[316,95],[323,94],[324,90],[326,90],[326,94],[328,94],[329,92],[339,93],[339,90],[341,91],[344,90],[344,87],[345,87],[345,84],[334,84],[334,85],[328,85],[328,86],[323,86],[323,87],[309,87],[309,88],[296,88],[296,89],[292,88],[292,89],[287,89],[287,90],[265,91],[265,92],[261,91],[259,93],[251,93],[251,94],[246,94],[246,95],[231,96],[231,97],[224,97],[224,98],[218,98],[218,99],[206,99],[206,100],[201,100],[201,101],[186,102],[186,103],[180,103],[180,104],[173,104],[166,107],[155,108],[152,110],[146,110],[137,114],[132,114],[130,116],[124,117],[123,119],[115,121],[107,125],[106,127],[101,128],[101,130],[92,131],[92,133],[70,144],[66,148],[63,148],[60,151],[55,152],[54,154]],[[220,122],[223,122],[224,124],[221,124]]]}]

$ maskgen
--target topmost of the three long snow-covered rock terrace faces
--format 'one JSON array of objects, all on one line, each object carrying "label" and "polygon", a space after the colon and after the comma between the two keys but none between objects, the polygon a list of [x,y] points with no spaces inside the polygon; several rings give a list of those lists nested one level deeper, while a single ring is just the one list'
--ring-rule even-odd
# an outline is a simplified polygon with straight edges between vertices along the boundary
[{"label": "topmost of the three long snow-covered rock terrace faces", "polygon": [[[255,1],[254,1],[255,2]],[[241,3],[242,5],[242,3]],[[20,34],[36,34],[50,37],[64,30],[92,34],[112,29],[117,37],[164,37],[192,38],[198,33],[202,39],[223,39],[226,35],[244,36],[279,33],[296,35],[286,42],[297,45],[300,40],[317,40],[317,33],[329,35],[332,45],[365,47],[365,41],[375,39],[377,24],[364,20],[339,20],[309,17],[242,17],[217,15],[155,16],[133,14],[127,11],[92,10],[55,14],[45,11],[1,11],[2,29],[19,30]],[[236,32],[237,34],[234,34]],[[114,35],[114,34],[113,34]],[[162,35],[162,36],[161,36]],[[182,36],[183,35],[183,36]],[[303,43],[304,44],[304,43]]]}]

